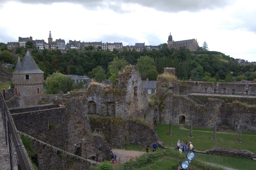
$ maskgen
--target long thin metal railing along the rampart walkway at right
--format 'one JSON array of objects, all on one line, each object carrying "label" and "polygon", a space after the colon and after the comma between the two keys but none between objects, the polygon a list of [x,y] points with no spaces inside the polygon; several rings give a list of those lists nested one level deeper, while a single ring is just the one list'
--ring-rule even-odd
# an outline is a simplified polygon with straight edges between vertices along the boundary
[{"label": "long thin metal railing along the rampart walkway at right", "polygon": [[226,91],[208,91],[208,90],[190,90],[189,94],[191,93],[197,93],[197,94],[220,94],[220,95],[243,95],[243,96],[255,96],[256,93],[250,93],[250,92],[226,92]]}]

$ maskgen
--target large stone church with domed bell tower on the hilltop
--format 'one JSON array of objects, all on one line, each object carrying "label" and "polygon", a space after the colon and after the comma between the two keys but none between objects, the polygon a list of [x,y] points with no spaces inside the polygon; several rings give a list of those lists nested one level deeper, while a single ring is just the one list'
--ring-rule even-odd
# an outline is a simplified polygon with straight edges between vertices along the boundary
[{"label": "large stone church with domed bell tower on the hilltop", "polygon": [[198,47],[197,39],[173,41],[173,36],[171,35],[171,33],[168,37],[167,44],[169,49],[172,49],[172,48],[179,49],[180,47],[185,46],[190,51],[196,51]]}]

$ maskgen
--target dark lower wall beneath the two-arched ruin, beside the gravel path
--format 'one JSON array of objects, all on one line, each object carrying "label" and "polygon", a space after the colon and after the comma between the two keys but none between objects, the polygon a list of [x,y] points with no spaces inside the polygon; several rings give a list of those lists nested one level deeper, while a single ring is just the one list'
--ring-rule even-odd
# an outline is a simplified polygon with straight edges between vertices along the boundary
[{"label": "dark lower wall beneath the two-arched ruin, beside the gravel path", "polygon": [[90,117],[90,125],[92,131],[103,133],[112,147],[122,148],[124,144],[147,146],[154,142],[164,145],[155,128],[145,124],[111,117]]}]

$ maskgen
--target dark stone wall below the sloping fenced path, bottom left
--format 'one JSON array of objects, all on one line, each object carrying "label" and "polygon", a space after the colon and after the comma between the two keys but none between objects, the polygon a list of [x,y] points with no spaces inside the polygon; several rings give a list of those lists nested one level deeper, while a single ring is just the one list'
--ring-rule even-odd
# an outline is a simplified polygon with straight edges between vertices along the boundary
[{"label": "dark stone wall below the sloping fenced path, bottom left", "polygon": [[69,153],[64,153],[62,150],[51,148],[50,146],[32,140],[31,149],[33,149],[38,161],[38,170],[56,169],[89,169],[91,163]]}]

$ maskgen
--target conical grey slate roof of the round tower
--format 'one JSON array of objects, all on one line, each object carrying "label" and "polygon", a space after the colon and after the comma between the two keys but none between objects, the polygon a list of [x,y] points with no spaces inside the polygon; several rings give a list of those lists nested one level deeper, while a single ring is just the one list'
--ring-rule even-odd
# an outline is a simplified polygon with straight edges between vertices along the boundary
[{"label": "conical grey slate roof of the round tower", "polygon": [[[19,62],[19,60],[18,60]],[[18,65],[17,62],[17,65]],[[16,66],[17,67],[17,66]],[[16,70],[17,69],[17,70]],[[19,64],[18,68],[16,68],[13,74],[33,74],[33,73],[44,73],[39,69],[36,62],[30,55],[29,51],[27,51],[22,64]]]}]

